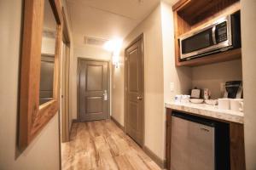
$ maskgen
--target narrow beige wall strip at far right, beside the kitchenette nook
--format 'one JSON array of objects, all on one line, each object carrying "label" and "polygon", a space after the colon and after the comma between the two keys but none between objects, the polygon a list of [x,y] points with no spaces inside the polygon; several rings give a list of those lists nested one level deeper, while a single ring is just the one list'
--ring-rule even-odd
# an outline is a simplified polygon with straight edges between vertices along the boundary
[{"label": "narrow beige wall strip at far right, beside the kitchenette nook", "polygon": [[256,1],[241,0],[241,51],[247,170],[256,169]]}]

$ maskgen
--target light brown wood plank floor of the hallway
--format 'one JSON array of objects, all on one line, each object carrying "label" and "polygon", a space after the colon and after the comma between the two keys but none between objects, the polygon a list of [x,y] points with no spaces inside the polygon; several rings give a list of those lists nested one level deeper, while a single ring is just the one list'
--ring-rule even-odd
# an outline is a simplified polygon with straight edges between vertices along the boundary
[{"label": "light brown wood plank floor of the hallway", "polygon": [[61,144],[62,169],[160,170],[112,121],[74,123],[71,141]]}]

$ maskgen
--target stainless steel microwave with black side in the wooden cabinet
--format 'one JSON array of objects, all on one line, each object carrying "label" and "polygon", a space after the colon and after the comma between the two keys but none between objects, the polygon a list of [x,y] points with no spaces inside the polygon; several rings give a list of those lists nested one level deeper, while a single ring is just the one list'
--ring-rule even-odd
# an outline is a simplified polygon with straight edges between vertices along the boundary
[{"label": "stainless steel microwave with black side in the wooden cabinet", "polygon": [[240,11],[179,37],[180,60],[241,48]]}]

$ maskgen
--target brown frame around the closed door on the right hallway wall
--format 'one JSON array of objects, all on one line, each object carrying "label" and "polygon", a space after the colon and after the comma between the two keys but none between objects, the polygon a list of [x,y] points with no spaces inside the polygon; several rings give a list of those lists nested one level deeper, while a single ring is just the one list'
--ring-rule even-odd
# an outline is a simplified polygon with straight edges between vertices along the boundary
[{"label": "brown frame around the closed door on the right hallway wall", "polygon": [[143,80],[143,144],[142,144],[142,148],[144,148],[144,144],[145,144],[145,87],[144,87],[144,39],[143,39],[144,35],[143,33],[141,35],[139,35],[137,38],[135,38],[131,43],[129,43],[129,45],[125,48],[125,133],[127,133],[127,82],[128,82],[128,72],[127,72],[127,62],[126,62],[126,58],[127,58],[127,54],[126,54],[126,50],[128,48],[131,48],[132,45],[134,45],[136,42],[138,42],[139,40],[142,41],[142,80]]}]

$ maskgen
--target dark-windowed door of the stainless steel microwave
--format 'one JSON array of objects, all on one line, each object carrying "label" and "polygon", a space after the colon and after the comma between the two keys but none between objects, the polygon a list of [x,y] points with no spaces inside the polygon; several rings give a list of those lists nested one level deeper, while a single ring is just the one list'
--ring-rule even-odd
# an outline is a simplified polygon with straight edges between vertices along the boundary
[{"label": "dark-windowed door of the stainless steel microwave", "polygon": [[215,26],[181,40],[181,59],[206,52],[204,49],[216,44]]}]

